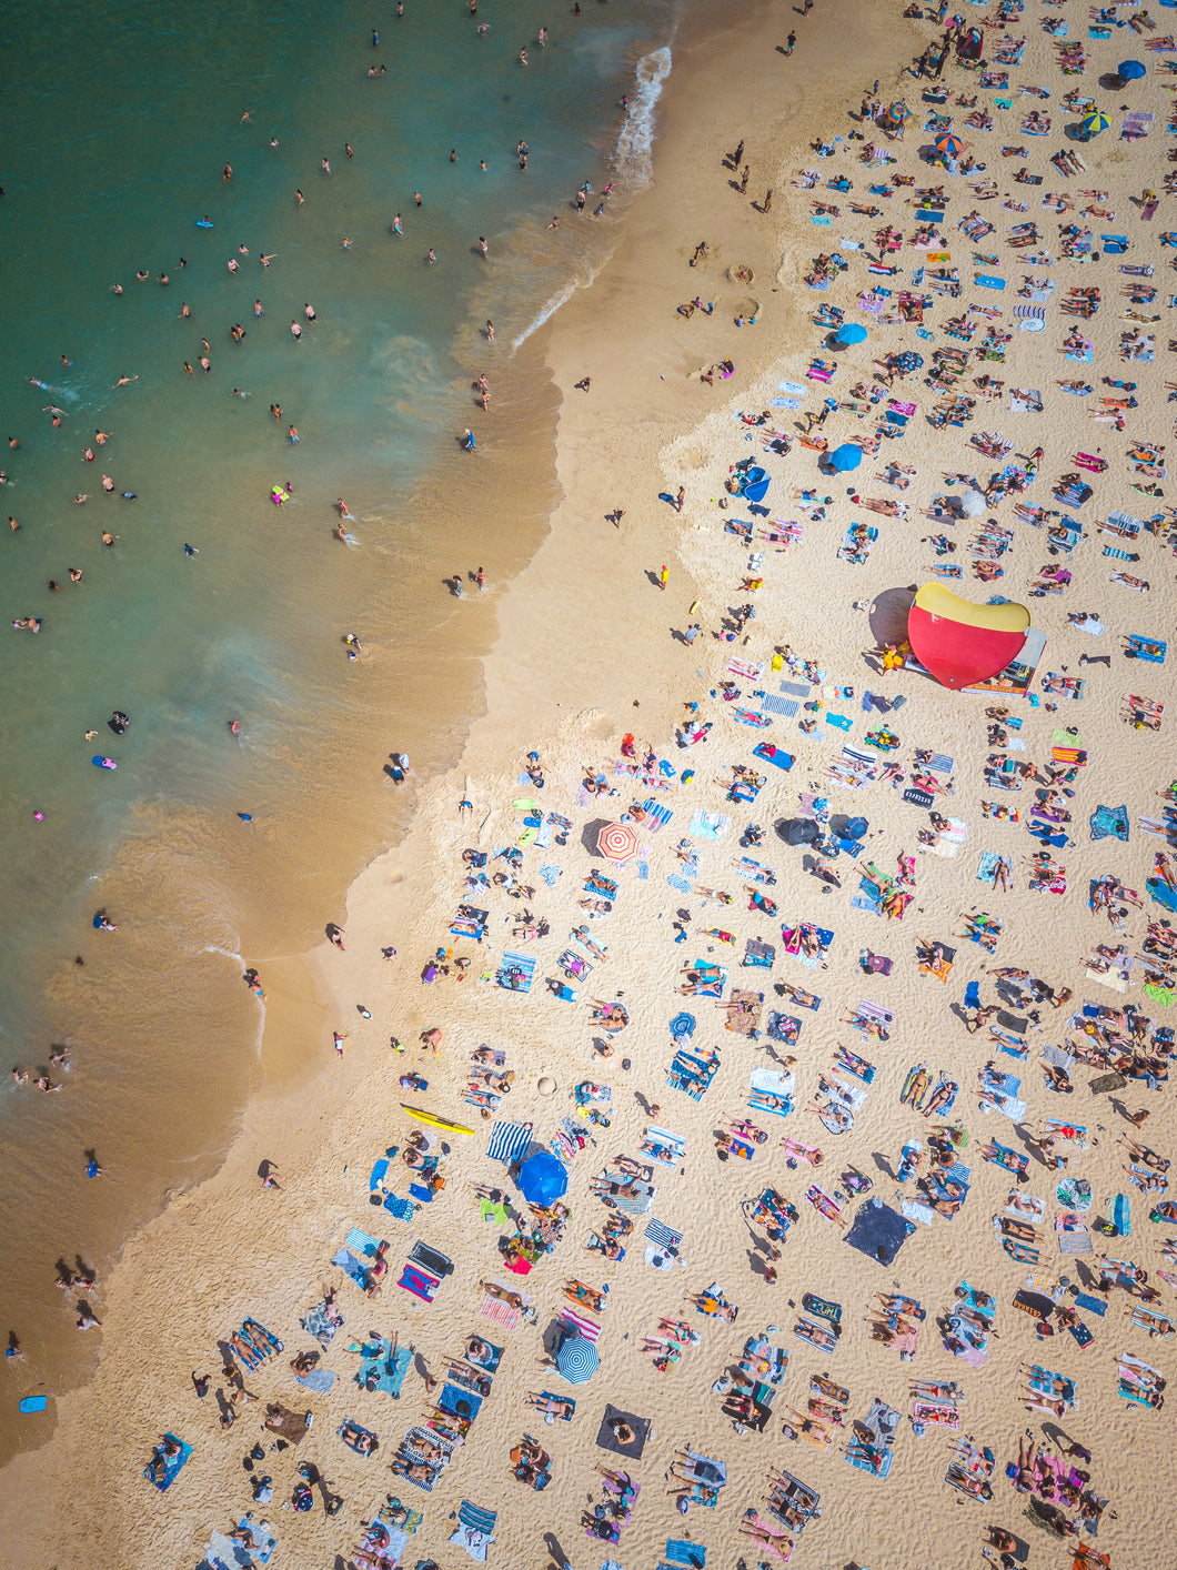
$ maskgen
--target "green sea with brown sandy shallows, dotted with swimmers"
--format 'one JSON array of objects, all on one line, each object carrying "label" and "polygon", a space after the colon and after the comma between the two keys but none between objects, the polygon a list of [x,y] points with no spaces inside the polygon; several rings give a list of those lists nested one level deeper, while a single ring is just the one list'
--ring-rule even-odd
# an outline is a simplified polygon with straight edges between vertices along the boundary
[{"label": "green sea with brown sandy shallows, dotted with swimmers", "polygon": [[[675,17],[676,0],[0,16],[0,436],[17,443],[0,501],[20,526],[0,524],[0,611],[42,619],[0,628],[0,1333],[49,1388],[94,1355],[55,1261],[105,1270],[232,1137],[262,1025],[243,962],[312,942],[337,915],[325,892],[403,829],[388,752],[427,769],[460,746],[490,619],[443,579],[483,559],[505,576],[543,529],[554,400],[530,334],[648,177]],[[94,931],[99,907],[118,933]],[[39,1094],[53,1042],[72,1060]],[[0,1457],[36,1438],[6,1422]]]}]

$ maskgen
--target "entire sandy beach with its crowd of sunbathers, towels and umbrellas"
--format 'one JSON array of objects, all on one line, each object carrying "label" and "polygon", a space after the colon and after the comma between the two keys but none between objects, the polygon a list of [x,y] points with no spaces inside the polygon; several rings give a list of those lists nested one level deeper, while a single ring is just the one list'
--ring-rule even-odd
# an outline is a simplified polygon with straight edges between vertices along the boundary
[{"label": "entire sandy beach with its crowd of sunbathers, towels and umbrellas", "polygon": [[[684,19],[653,182],[516,355],[559,501],[454,608],[497,623],[461,760],[337,945],[248,956],[264,1083],[89,1298],[93,1382],[11,1360],[50,1397],[13,1567],[228,1564],[242,1521],[278,1567],[1164,1554],[1177,44],[1006,9],[940,74],[896,0]],[[885,669],[924,584],[1029,609],[1025,691]]]}]

